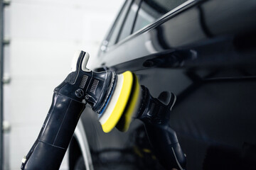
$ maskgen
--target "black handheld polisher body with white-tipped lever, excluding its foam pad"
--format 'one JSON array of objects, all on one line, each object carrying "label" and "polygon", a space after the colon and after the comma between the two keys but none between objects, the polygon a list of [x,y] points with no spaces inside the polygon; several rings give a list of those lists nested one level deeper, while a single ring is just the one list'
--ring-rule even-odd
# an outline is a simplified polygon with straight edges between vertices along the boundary
[{"label": "black handheld polisher body with white-tipped lever, excluding its foam pad", "polygon": [[86,68],[88,59],[83,51],[74,56],[70,74],[54,89],[50,111],[21,169],[59,169],[85,105],[97,112],[105,106],[114,73],[92,72]]}]

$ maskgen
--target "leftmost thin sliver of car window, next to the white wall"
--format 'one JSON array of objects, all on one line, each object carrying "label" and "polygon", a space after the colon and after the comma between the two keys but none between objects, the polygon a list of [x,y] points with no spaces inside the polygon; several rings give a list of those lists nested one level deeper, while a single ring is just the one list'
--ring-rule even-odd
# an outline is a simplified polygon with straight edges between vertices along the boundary
[{"label": "leftmost thin sliver of car window, next to the white wall", "polygon": [[117,41],[117,37],[119,35],[119,30],[122,27],[122,23],[124,22],[124,18],[127,15],[127,11],[129,6],[131,5],[132,0],[128,0],[125,2],[122,11],[119,13],[119,17],[117,21],[114,23],[114,27],[112,28],[112,33],[110,33],[110,38],[108,40],[108,46],[114,45]]}]

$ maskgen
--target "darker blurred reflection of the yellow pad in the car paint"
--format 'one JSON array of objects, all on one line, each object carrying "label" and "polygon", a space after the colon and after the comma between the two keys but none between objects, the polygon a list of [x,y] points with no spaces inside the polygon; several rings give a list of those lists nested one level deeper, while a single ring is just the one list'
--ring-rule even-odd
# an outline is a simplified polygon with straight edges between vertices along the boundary
[{"label": "darker blurred reflection of the yellow pad in the car paint", "polygon": [[132,115],[137,112],[139,107],[139,98],[140,98],[140,86],[139,81],[135,74],[133,74],[134,81],[132,85],[132,91],[129,97],[124,113],[117,123],[116,127],[122,132],[126,132],[129,129],[129,125],[132,121]]}]

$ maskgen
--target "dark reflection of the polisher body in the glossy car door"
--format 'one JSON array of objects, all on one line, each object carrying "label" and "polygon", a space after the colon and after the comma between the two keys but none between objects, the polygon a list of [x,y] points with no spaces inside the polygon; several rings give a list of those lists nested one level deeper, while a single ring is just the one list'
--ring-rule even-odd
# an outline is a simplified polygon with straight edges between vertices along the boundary
[{"label": "dark reflection of the polisher body in the glossy car door", "polygon": [[178,143],[176,132],[169,125],[176,96],[169,91],[163,91],[158,98],[153,98],[145,86],[142,86],[142,91],[144,97],[137,118],[144,123],[156,157],[165,169],[185,169],[185,154]]}]

